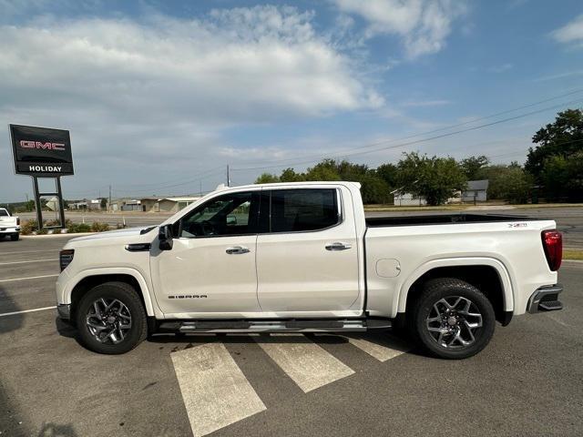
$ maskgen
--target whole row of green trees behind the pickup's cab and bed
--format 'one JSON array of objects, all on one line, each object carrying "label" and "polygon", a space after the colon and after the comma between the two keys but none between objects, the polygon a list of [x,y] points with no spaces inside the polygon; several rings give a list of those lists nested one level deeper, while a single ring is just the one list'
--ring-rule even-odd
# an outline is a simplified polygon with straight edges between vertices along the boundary
[{"label": "whole row of green trees behind the pickup's cab and bed", "polygon": [[396,164],[376,168],[327,158],[305,172],[286,168],[280,175],[263,173],[255,183],[350,180],[361,183],[366,204],[389,203],[397,190],[424,197],[429,205],[441,205],[464,190],[468,180],[488,179],[488,198],[509,203],[539,197],[583,201],[583,111],[559,112],[532,139],[537,146],[529,148],[524,166],[516,161],[493,165],[486,156],[456,160],[408,152]]}]

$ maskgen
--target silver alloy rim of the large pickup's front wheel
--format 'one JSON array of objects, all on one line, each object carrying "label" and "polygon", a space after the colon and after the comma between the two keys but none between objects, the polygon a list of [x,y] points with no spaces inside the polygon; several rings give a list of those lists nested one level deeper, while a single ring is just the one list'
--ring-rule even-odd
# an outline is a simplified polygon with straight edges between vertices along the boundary
[{"label": "silver alloy rim of the large pickup's front wheel", "polygon": [[87,310],[86,326],[98,342],[118,344],[131,329],[131,312],[121,300],[99,298]]}]

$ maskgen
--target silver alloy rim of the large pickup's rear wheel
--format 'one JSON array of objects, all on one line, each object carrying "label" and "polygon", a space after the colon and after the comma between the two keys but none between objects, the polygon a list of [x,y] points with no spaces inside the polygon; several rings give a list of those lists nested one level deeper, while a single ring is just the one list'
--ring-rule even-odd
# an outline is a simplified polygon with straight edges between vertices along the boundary
[{"label": "silver alloy rim of the large pickup's rear wheel", "polygon": [[446,349],[461,349],[476,342],[483,318],[476,304],[462,296],[437,300],[425,320],[437,344]]}]

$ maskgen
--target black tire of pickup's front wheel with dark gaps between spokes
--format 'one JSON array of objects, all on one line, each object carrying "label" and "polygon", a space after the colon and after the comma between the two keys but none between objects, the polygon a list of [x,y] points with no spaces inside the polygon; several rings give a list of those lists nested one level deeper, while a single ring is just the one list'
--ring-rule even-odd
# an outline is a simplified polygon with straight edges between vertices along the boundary
[{"label": "black tire of pickup's front wheel with dark gaps between spokes", "polygon": [[[104,299],[106,302],[110,302],[111,300],[121,302],[126,307],[126,310],[123,310],[125,313],[125,319],[128,318],[128,315],[130,317],[130,328],[123,332],[120,332],[119,329],[115,329],[116,321],[113,321],[111,325],[106,324],[108,320],[107,318],[105,321],[101,321],[104,326],[107,326],[107,330],[99,328],[103,330],[101,331],[101,335],[114,331],[114,335],[116,336],[115,340],[118,341],[116,343],[114,343],[114,340],[111,338],[105,339],[104,342],[97,340],[95,332],[92,333],[87,326],[87,316],[90,312],[96,312],[94,302],[100,299]],[[99,308],[105,307],[105,305],[102,304],[98,304],[98,306]],[[120,308],[120,305],[116,303],[113,310],[117,310],[118,308]],[[79,300],[75,312],[78,339],[89,351],[112,355],[126,353],[138,346],[138,344],[148,336],[147,316],[144,305],[139,299],[136,290],[125,282],[112,281],[97,285],[93,289],[87,291],[81,300]],[[118,313],[119,312],[121,312],[121,310],[119,310]],[[104,316],[106,315],[105,311],[101,312],[101,314]],[[124,320],[117,317],[117,314],[112,314],[111,317],[121,320],[122,323],[124,322]],[[96,324],[96,320],[98,320],[98,318],[95,316],[92,316],[90,319],[94,325]],[[119,325],[117,326],[119,327]],[[123,339],[120,339],[122,335]]]}]

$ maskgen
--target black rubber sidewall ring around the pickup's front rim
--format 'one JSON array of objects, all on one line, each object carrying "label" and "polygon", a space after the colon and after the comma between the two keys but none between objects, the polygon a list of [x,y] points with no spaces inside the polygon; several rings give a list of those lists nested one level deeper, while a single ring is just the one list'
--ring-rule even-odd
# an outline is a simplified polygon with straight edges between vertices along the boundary
[{"label": "black rubber sidewall ring around the pickup's front rim", "polygon": [[[146,313],[136,292],[125,284],[106,283],[97,285],[92,290],[87,291],[79,301],[77,307],[77,334],[80,342],[90,351],[106,354],[125,353],[134,349],[143,340],[146,329]],[[131,314],[131,329],[118,344],[104,344],[95,339],[89,332],[86,325],[87,311],[99,298],[117,299],[128,307]]]}]

